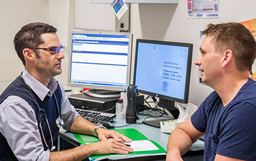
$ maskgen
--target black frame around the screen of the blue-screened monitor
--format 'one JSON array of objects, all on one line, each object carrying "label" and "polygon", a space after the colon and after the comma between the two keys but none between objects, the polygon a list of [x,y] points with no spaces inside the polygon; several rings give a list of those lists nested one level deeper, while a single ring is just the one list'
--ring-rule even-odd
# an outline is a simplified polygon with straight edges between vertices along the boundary
[{"label": "black frame around the screen of the blue-screened monitor", "polygon": [[168,101],[174,101],[179,103],[188,103],[189,101],[189,86],[190,86],[190,77],[191,77],[191,64],[192,64],[192,56],[193,56],[193,44],[185,43],[185,42],[167,42],[161,40],[145,40],[145,39],[137,39],[136,40],[136,50],[135,50],[135,62],[134,62],[134,75],[133,75],[133,85],[136,86],[136,71],[137,71],[137,52],[138,52],[138,44],[139,43],[148,43],[148,44],[164,44],[164,45],[172,45],[172,46],[185,46],[189,47],[188,58],[187,58],[187,72],[186,72],[186,80],[185,80],[185,93],[184,99],[178,99],[166,95],[160,95],[158,93],[154,93],[151,91],[143,91],[137,87],[138,93],[144,95],[150,95],[152,97],[158,97],[160,99],[166,99]]}]

